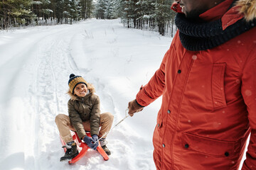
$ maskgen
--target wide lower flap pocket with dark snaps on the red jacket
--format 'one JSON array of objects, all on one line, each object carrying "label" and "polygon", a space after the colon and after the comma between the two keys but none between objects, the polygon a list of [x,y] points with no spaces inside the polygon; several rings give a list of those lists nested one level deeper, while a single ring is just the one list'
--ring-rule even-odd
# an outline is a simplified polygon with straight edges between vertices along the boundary
[{"label": "wide lower flap pocket with dark snaps on the red jacket", "polygon": [[183,132],[181,143],[186,149],[212,157],[235,157],[240,151],[239,141],[214,140]]}]

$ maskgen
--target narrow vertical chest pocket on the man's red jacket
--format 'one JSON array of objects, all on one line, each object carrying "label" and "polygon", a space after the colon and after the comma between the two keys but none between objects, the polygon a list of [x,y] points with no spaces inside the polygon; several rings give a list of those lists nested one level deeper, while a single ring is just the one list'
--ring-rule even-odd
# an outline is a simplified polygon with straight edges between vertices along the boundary
[{"label": "narrow vertical chest pocket on the man's red jacket", "polygon": [[225,63],[214,63],[212,72],[213,109],[227,106],[224,91]]}]

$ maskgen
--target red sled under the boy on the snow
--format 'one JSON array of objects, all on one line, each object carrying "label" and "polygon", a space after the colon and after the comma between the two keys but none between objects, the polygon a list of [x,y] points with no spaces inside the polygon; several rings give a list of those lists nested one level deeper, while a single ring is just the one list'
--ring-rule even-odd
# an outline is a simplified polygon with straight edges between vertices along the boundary
[{"label": "red sled under the boy on the snow", "polygon": [[[86,154],[87,150],[88,150],[90,147],[88,147],[88,145],[86,145],[84,142],[82,142],[82,141],[80,140],[80,138],[78,137],[77,132],[71,131],[71,135],[72,135],[72,137],[73,137],[73,140],[74,140],[75,143],[77,144],[77,146],[80,147],[80,148],[82,148],[82,149],[80,150],[79,154],[78,154],[76,157],[74,157],[73,159],[71,159],[70,161],[68,161],[68,164],[75,164],[75,162],[78,162],[78,160],[81,159],[81,158]],[[88,137],[91,137],[90,132],[86,132],[86,135],[87,135]],[[63,139],[62,139],[61,137],[60,137],[60,141],[61,141],[61,144],[62,144],[63,146],[66,145],[65,142],[63,141]],[[79,149],[78,149],[78,150],[79,150]],[[66,152],[66,151],[67,151],[67,149],[64,147],[64,152]],[[105,161],[107,161],[108,159],[110,159],[110,158],[107,156],[106,152],[105,152],[105,151],[102,149],[102,147],[100,146],[100,142],[99,142],[99,146],[97,147],[97,152],[99,152],[99,153],[102,155],[102,157],[103,157],[103,159],[104,159]]]}]

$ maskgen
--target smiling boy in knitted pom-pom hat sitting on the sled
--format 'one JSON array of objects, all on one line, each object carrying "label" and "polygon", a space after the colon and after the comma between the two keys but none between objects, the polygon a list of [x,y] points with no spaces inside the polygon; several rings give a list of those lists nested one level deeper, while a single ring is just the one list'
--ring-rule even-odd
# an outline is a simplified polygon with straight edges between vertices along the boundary
[{"label": "smiling boy in knitted pom-pom hat sitting on the sled", "polygon": [[[80,76],[70,74],[68,86],[70,88],[68,90],[68,94],[70,95],[70,100],[68,101],[68,115],[59,114],[55,118],[60,137],[62,137],[63,141],[66,143],[65,147],[67,148],[65,155],[60,158],[60,161],[73,159],[78,155],[78,149],[70,135],[70,130],[76,131],[78,137],[80,137],[88,147],[96,150],[99,145],[96,141],[110,131],[114,120],[114,116],[111,113],[100,114],[100,98],[94,94],[95,88],[92,84],[88,84],[85,79]],[[85,131],[90,131],[92,137],[88,137]],[[100,145],[102,149],[105,150],[106,154],[111,154],[106,146],[106,138],[100,140]]]}]

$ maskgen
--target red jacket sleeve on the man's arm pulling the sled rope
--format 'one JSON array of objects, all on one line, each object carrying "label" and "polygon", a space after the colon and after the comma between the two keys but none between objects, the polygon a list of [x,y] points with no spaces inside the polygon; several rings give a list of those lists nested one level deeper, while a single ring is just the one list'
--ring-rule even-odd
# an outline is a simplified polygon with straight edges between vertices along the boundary
[{"label": "red jacket sleeve on the man's arm pulling the sled rope", "polygon": [[163,94],[165,86],[165,64],[168,56],[169,50],[164,55],[160,68],[156,70],[154,76],[151,77],[148,84],[141,87],[136,96],[136,101],[139,103],[139,105],[148,106],[150,103],[155,101],[156,98],[159,98],[159,96]]}]

